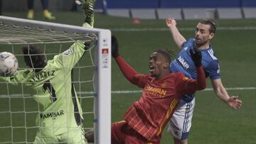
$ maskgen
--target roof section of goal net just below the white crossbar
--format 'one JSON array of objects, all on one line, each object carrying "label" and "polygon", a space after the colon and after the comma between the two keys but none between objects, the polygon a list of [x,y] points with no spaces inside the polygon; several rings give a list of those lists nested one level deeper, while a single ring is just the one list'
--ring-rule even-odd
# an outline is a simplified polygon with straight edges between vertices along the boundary
[{"label": "roof section of goal net just below the white crossbar", "polygon": [[[29,26],[6,25],[0,23],[0,44],[49,44],[73,43],[75,40],[92,40],[86,33],[67,33]],[[95,36],[95,35],[94,35]]]}]

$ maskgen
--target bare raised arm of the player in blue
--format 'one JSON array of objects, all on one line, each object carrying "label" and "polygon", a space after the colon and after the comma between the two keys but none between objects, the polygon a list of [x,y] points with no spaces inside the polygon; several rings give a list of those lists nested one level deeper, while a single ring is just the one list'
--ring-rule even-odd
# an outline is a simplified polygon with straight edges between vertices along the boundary
[{"label": "bare raised arm of the player in blue", "polygon": [[167,18],[166,19],[166,26],[170,28],[171,35],[174,38],[174,42],[178,46],[178,48],[182,48],[182,44],[186,42],[186,39],[181,35],[181,33],[178,31],[178,28],[176,27],[176,21],[174,18]]}]

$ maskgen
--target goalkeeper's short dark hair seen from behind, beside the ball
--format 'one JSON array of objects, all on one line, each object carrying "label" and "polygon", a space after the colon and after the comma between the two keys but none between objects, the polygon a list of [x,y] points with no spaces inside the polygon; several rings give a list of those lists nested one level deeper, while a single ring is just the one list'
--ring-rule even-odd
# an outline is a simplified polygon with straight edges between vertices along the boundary
[{"label": "goalkeeper's short dark hair seen from behind, beside the ball", "polygon": [[33,68],[36,72],[46,67],[46,55],[41,49],[37,48],[36,45],[24,45],[22,52],[28,67]]}]

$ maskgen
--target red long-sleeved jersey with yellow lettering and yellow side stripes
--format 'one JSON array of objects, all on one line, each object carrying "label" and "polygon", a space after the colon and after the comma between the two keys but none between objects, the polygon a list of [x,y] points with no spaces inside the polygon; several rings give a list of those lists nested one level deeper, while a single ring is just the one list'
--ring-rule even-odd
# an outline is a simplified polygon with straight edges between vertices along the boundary
[{"label": "red long-sleeved jersey with yellow lettering and yellow side stripes", "polygon": [[137,74],[122,57],[116,60],[124,76],[143,88],[139,101],[134,102],[124,114],[124,121],[148,140],[160,140],[164,126],[182,96],[206,87],[202,67],[198,68],[199,75],[202,74],[198,83],[198,80],[188,79],[181,72],[170,73],[161,79],[151,77],[150,74]]}]

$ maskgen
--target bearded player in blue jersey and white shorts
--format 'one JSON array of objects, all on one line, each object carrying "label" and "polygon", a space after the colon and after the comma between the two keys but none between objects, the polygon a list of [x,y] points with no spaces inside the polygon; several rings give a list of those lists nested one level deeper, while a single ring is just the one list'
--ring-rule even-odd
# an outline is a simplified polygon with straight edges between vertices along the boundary
[{"label": "bearded player in blue jersey and white shorts", "polygon": [[[220,66],[215,57],[210,40],[213,39],[216,31],[215,21],[203,19],[196,26],[194,38],[187,40],[179,33],[174,18],[166,19],[166,26],[169,27],[174,42],[180,48],[180,52],[174,61],[171,62],[171,72],[183,72],[186,77],[196,79],[196,66],[191,60],[189,50],[199,50],[202,53],[202,65],[206,77],[210,77],[213,90],[219,99],[224,101],[233,109],[238,109],[242,101],[238,96],[229,96],[220,79]],[[181,99],[174,116],[169,121],[168,132],[173,135],[175,144],[188,143],[188,132],[191,128],[193,108],[195,105],[195,94],[186,95]]]}]

